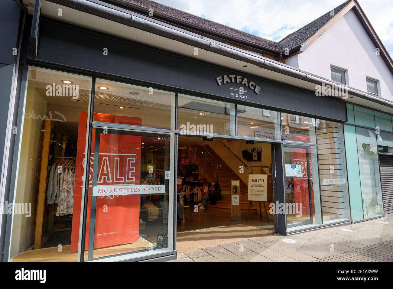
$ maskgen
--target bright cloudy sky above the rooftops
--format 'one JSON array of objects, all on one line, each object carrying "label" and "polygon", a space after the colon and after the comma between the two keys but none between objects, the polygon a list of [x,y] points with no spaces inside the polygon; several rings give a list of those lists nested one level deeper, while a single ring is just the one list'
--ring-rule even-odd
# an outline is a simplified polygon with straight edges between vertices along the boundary
[{"label": "bright cloudy sky above the rooftops", "polygon": [[[155,0],[259,37],[279,41],[345,0]],[[393,57],[393,0],[358,0]]]}]

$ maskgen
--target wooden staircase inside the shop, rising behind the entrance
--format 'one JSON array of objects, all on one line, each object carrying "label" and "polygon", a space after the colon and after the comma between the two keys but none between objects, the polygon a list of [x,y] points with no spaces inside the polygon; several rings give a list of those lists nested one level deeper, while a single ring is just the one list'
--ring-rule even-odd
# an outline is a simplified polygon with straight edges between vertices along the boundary
[{"label": "wooden staircase inside the shop, rising behind the entrance", "polygon": [[[240,194],[241,194],[241,212],[246,213],[250,202],[247,201],[248,186],[239,178],[226,162],[212,149],[208,144],[193,145],[191,149],[195,152],[196,158],[200,162],[206,164],[206,169],[209,175],[213,176],[215,182],[217,180],[217,164],[218,164],[218,182],[221,187],[221,201],[216,201],[215,205],[208,203],[207,209],[214,209],[216,212],[231,212],[231,180],[240,180]],[[251,207],[250,213],[255,213],[256,208]]]}]

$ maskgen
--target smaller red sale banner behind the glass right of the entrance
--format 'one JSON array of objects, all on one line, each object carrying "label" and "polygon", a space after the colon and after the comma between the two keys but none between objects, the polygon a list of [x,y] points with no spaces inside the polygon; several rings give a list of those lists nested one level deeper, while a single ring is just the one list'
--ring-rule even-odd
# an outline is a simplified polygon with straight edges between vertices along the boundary
[{"label": "smaller red sale banner behind the glass right of the entrance", "polygon": [[[301,214],[309,215],[310,214],[310,197],[309,197],[309,181],[308,181],[308,173],[307,166],[309,166],[310,170],[310,182],[312,184],[312,169],[311,162],[307,164],[307,153],[305,149],[291,148],[291,158],[292,164],[301,166],[301,177],[293,177],[294,180],[294,197],[295,203],[301,204]],[[309,160],[311,159],[311,155],[309,154]],[[311,203],[312,210],[314,212],[314,188],[311,186]],[[300,205],[299,205],[300,208]]]}]

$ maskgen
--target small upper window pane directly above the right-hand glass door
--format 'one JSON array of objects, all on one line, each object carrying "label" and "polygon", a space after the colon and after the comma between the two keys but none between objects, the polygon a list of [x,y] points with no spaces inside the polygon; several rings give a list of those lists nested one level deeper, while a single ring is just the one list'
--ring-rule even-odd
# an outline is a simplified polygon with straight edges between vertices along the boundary
[{"label": "small upper window pane directly above the right-hand glass door", "polygon": [[283,140],[316,143],[315,118],[281,113]]}]

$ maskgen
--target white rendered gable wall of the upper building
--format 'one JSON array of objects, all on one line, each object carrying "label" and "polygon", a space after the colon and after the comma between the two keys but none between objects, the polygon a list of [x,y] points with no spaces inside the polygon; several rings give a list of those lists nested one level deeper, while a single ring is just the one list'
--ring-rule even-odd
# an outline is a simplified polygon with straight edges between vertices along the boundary
[{"label": "white rendered gable wall of the upper building", "polygon": [[[366,76],[379,80],[379,96],[393,100],[393,75],[353,10],[286,64],[331,79],[330,67],[348,70],[350,87],[367,92]],[[296,66],[298,64],[298,66]]]}]

